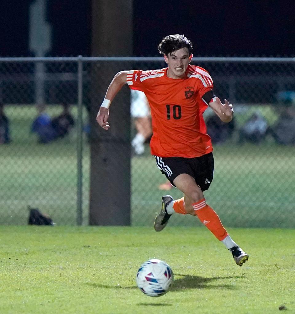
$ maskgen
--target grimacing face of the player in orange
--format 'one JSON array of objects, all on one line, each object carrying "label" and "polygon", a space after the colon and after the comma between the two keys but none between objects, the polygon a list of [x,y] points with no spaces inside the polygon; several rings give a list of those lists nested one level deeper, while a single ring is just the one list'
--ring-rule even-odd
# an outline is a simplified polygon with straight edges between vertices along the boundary
[{"label": "grimacing face of the player in orange", "polygon": [[181,48],[172,51],[168,56],[164,55],[164,59],[168,64],[167,75],[169,78],[183,78],[188,64],[192,60],[192,54],[188,53],[187,48]]}]

